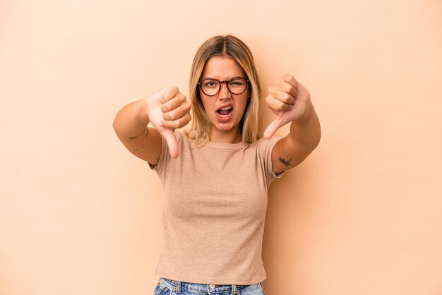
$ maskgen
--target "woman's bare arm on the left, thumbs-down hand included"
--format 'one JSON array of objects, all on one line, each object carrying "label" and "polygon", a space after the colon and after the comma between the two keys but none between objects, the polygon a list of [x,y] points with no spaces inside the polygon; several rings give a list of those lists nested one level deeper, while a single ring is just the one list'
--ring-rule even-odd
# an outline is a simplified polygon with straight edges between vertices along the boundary
[{"label": "woman's bare arm on the left, thumbs-down hand included", "polygon": [[[191,119],[190,104],[177,88],[166,88],[145,100],[131,102],[115,116],[113,127],[126,148],[150,164],[158,164],[163,134],[172,157],[178,156],[178,144],[173,135]],[[147,125],[151,123],[155,128]]]}]

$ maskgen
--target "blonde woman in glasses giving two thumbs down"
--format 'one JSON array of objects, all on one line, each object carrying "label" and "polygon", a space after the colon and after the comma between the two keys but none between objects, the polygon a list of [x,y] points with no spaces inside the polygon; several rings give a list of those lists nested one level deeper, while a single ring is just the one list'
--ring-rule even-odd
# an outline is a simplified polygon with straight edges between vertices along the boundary
[{"label": "blonde woman in glasses giving two thumbs down", "polygon": [[[114,129],[164,191],[155,294],[263,294],[267,189],[319,143],[309,92],[288,74],[268,88],[277,119],[258,137],[261,86],[249,48],[215,36],[196,52],[190,104],[177,88],[123,107]],[[190,131],[177,128],[191,120]],[[287,123],[284,138],[273,133]],[[148,123],[153,127],[148,127]]]}]

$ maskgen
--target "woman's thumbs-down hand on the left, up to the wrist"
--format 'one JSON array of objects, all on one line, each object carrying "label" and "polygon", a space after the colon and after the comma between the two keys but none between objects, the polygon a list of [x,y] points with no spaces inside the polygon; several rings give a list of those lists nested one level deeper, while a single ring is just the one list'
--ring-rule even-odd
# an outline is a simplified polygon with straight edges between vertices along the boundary
[{"label": "woman's thumbs-down hand on the left, up to the wrist", "polygon": [[191,105],[178,88],[160,90],[145,98],[150,123],[162,133],[172,158],[178,157],[179,148],[174,130],[191,121]]}]

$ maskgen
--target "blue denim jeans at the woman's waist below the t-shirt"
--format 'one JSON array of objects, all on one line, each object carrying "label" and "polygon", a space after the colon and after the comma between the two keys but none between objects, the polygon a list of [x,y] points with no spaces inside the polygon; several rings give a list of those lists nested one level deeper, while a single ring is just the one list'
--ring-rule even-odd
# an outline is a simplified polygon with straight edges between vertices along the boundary
[{"label": "blue denim jeans at the woman's waist below the t-shirt", "polygon": [[265,295],[263,284],[194,284],[160,277],[154,295]]}]

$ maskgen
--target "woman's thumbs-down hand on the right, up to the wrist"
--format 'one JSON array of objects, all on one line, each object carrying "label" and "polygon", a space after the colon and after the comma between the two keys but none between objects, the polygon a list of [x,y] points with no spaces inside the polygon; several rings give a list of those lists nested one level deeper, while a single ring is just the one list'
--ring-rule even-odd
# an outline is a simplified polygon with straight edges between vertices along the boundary
[{"label": "woman's thumbs-down hand on the right, up to the wrist", "polygon": [[285,124],[301,119],[311,104],[309,92],[289,74],[282,75],[275,85],[268,88],[265,103],[277,115],[265,129],[265,138],[272,137]]}]

